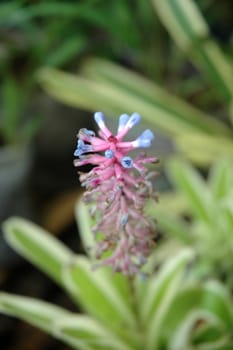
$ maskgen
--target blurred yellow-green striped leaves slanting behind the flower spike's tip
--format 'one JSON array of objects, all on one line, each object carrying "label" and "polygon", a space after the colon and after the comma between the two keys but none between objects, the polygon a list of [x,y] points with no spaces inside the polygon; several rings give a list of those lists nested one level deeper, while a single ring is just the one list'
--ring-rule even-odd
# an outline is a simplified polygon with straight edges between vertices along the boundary
[{"label": "blurred yellow-green striped leaves slanting behind the flower spike's tip", "polygon": [[84,76],[76,77],[45,68],[40,81],[49,94],[72,106],[104,110],[110,115],[136,110],[199,165],[209,165],[223,154],[232,157],[232,128],[228,124],[112,63],[93,59],[82,72]]}]

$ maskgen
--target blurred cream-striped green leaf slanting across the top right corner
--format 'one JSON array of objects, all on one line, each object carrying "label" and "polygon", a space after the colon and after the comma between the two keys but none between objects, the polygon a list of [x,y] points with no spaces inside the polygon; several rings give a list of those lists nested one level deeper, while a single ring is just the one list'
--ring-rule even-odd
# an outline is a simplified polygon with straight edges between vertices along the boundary
[{"label": "blurred cream-striped green leaf slanting across the top right corner", "polygon": [[152,3],[176,43],[207,73],[224,100],[230,102],[233,97],[232,67],[211,40],[207,23],[196,3],[192,0],[153,0]]}]

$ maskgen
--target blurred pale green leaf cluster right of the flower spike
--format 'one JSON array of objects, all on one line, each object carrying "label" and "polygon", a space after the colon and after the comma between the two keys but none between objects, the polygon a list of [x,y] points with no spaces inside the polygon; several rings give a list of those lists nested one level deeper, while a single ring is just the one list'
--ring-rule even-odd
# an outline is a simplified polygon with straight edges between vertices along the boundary
[{"label": "blurred pale green leaf cluster right of the flower spike", "polygon": [[198,256],[199,277],[217,277],[232,289],[231,162],[218,160],[209,171],[208,181],[181,159],[170,160],[167,174],[174,190],[161,196],[159,208],[149,206],[148,214],[159,217],[159,226],[168,241],[193,247]]}]

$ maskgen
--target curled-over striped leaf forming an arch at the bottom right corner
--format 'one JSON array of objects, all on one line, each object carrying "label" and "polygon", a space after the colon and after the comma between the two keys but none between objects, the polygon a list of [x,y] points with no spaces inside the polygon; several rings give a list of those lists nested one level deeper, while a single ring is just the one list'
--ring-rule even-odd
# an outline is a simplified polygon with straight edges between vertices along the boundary
[{"label": "curled-over striped leaf forming an arch at the bottom right corner", "polygon": [[[233,326],[232,307],[226,289],[217,282],[184,288],[174,298],[164,320],[163,342],[168,342],[171,350],[189,348],[192,338],[196,338],[200,349],[209,341],[213,345],[213,337],[216,344],[228,345]],[[203,330],[203,325],[211,329]]]}]

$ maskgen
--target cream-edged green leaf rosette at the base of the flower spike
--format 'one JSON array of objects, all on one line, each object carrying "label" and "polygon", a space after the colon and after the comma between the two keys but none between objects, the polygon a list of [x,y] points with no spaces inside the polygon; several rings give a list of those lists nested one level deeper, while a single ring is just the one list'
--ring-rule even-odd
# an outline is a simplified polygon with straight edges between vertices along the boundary
[{"label": "cream-edged green leaf rosette at the base of the flower spike", "polygon": [[[93,243],[87,208],[76,214],[87,252]],[[93,259],[75,255],[38,226],[20,218],[4,223],[9,244],[57,282],[84,314],[30,297],[0,293],[0,311],[31,323],[74,349],[231,349],[233,304],[218,282],[200,284],[183,249],[145,280],[93,271]],[[153,263],[146,272],[153,270]],[[190,277],[190,278],[189,278]],[[182,288],[181,288],[182,285]]]}]

